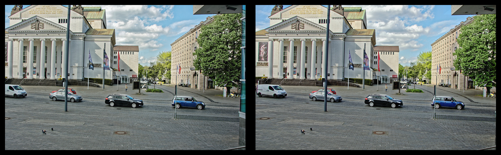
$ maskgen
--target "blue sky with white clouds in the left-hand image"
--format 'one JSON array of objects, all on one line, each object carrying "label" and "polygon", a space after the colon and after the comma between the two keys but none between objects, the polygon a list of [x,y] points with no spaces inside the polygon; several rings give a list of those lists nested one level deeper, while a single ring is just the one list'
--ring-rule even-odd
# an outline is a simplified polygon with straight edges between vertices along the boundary
[{"label": "blue sky with white clouds in the left-hand image", "polygon": [[[30,5],[23,5],[26,8]],[[68,5],[64,5],[68,6]],[[170,51],[170,44],[207,16],[193,14],[192,5],[82,5],[106,9],[107,28],[115,29],[116,45],[138,45],[139,63],[149,65],[160,51]],[[14,5],[5,5],[5,28]],[[66,25],[63,25],[66,26]]]}]

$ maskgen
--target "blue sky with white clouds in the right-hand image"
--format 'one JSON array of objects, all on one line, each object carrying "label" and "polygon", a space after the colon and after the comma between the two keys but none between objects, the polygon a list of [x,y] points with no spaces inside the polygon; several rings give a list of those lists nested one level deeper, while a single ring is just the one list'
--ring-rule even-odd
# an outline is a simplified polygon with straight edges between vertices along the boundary
[{"label": "blue sky with white clouds in the right-hand image", "polygon": [[[275,5],[256,6],[256,31],[270,27]],[[284,5],[287,8],[291,5]],[[327,5],[323,5],[327,7]],[[342,5],[366,10],[367,28],[376,29],[376,45],[399,46],[399,63],[409,66],[431,43],[473,15],[450,15],[451,5]],[[332,7],[332,5],[331,5]]]}]

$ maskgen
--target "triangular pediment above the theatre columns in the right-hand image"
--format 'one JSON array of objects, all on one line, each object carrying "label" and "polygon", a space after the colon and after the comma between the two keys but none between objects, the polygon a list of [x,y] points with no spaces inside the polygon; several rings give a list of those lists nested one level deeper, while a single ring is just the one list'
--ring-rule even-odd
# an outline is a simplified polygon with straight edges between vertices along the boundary
[{"label": "triangular pediment above the theatre columns in the right-hand image", "polygon": [[266,31],[325,31],[327,28],[305,18],[294,16],[266,28]]}]

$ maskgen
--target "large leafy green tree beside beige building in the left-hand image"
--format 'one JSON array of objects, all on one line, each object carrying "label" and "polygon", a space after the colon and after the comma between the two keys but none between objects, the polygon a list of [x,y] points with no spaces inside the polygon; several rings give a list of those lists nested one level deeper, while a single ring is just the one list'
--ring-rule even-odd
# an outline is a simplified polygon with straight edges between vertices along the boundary
[{"label": "large leafy green tree beside beige building in the left-hand image", "polygon": [[238,86],[241,66],[241,13],[218,14],[201,28],[193,66],[218,86]]}]

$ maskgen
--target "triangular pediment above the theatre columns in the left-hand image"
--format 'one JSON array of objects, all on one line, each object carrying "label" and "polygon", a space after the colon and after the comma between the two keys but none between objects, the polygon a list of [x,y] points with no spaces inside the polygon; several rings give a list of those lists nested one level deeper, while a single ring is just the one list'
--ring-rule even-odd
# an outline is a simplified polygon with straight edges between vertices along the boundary
[{"label": "triangular pediment above the theatre columns in the left-hand image", "polygon": [[47,20],[43,17],[33,16],[25,21],[12,25],[5,29],[6,31],[51,31],[66,30],[66,27]]}]

